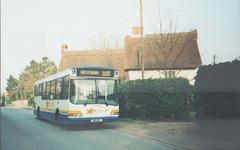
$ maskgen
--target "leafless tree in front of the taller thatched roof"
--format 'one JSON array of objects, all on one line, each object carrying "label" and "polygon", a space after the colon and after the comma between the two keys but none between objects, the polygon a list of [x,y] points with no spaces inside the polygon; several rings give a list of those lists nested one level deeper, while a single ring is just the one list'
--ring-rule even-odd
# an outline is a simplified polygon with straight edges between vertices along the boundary
[{"label": "leafless tree in front of the taller thatched roof", "polygon": [[[170,17],[168,28],[164,28],[164,20],[160,17],[159,27],[155,27],[155,35],[148,36],[146,46],[154,55],[159,73],[164,77],[177,76],[186,64],[183,54],[190,46],[193,39],[192,30],[188,32],[177,32],[177,20],[172,21]],[[156,66],[155,66],[156,68]],[[173,69],[178,68],[177,71]]]}]

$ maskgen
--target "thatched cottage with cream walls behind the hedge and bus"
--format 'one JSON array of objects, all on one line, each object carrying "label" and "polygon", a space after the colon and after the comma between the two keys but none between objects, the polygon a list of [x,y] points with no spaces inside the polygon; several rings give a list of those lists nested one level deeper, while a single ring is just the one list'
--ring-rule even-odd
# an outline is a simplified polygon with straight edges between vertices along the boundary
[{"label": "thatched cottage with cream walls behind the hedge and bus", "polygon": [[[76,66],[116,68],[121,80],[141,79],[141,38],[126,36],[124,49],[67,50],[62,45],[58,72]],[[182,33],[146,34],[143,38],[145,78],[185,77],[193,84],[202,65],[197,30]]]}]

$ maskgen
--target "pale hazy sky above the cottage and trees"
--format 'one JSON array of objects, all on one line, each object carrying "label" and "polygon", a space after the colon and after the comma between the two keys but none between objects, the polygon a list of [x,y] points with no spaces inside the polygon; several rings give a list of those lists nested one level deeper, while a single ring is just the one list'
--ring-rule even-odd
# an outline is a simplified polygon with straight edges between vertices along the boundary
[{"label": "pale hazy sky above the cottage and trees", "polygon": [[[197,29],[204,65],[240,56],[239,0],[142,0],[145,34],[177,20],[177,31]],[[171,19],[169,19],[171,18]],[[1,0],[1,91],[31,60],[47,56],[59,66],[61,45],[91,49],[100,34],[124,39],[140,26],[139,0]]]}]

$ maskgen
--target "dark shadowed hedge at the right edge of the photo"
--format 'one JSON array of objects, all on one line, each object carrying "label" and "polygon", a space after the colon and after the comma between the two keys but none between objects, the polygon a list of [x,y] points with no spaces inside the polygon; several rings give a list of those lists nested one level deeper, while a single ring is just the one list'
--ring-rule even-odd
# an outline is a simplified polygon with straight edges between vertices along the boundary
[{"label": "dark shadowed hedge at the right edge of the photo", "polygon": [[202,66],[195,79],[198,119],[240,118],[240,61]]}]

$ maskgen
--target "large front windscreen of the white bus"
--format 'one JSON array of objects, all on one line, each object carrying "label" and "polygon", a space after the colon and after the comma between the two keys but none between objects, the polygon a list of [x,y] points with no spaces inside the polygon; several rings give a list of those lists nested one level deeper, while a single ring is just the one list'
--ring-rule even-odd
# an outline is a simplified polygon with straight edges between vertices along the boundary
[{"label": "large front windscreen of the white bus", "polygon": [[73,104],[118,105],[116,80],[71,80],[70,101]]}]

